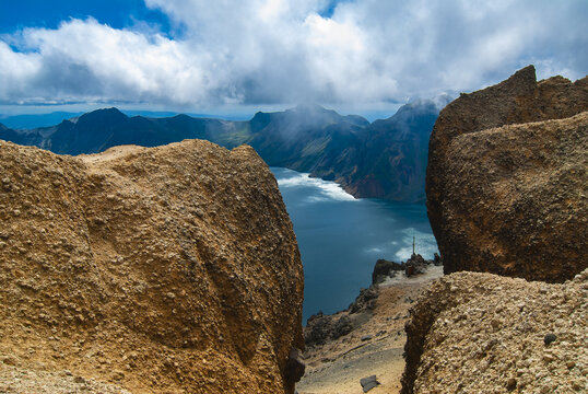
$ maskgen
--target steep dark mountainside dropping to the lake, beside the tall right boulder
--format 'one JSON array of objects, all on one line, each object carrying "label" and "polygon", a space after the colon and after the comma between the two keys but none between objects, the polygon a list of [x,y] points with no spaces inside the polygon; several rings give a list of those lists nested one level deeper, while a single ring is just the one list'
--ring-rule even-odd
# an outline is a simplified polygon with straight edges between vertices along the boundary
[{"label": "steep dark mountainside dropping to the lake, beside the tall right boulder", "polygon": [[[324,169],[333,169],[332,179],[355,197],[424,201],[428,137],[438,111],[432,101],[400,107],[393,116],[374,121]],[[313,174],[326,175],[322,169]]]}]

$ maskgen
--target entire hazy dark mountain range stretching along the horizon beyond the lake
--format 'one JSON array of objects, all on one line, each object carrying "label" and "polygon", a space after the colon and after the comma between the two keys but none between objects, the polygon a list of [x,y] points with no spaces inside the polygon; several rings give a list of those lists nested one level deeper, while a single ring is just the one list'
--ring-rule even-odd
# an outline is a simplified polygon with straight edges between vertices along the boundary
[{"label": "entire hazy dark mountain range stretching along the horizon beyond the lake", "polygon": [[228,149],[248,143],[270,166],[334,181],[355,197],[423,202],[428,137],[446,103],[414,102],[372,124],[314,104],[259,112],[244,121],[188,115],[129,117],[107,108],[28,130],[0,124],[0,139],[60,154],[97,153],[119,144],[154,147],[191,138]]}]

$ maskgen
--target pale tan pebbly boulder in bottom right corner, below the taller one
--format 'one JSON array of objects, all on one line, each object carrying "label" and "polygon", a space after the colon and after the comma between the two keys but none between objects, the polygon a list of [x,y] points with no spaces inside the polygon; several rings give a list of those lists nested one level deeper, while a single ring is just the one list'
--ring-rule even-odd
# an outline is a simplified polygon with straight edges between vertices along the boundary
[{"label": "pale tan pebbly boulder in bottom right corner, below the taller one", "polygon": [[563,285],[456,273],[411,315],[404,394],[588,392],[588,269]]}]

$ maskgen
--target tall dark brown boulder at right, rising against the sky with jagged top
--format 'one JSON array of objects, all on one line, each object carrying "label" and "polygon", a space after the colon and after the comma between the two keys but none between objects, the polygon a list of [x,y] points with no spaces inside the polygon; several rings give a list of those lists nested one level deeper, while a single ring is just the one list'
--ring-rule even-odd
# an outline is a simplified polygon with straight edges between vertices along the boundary
[{"label": "tall dark brown boulder at right, rising against the sky with jagged top", "polygon": [[446,274],[561,282],[588,267],[586,111],[588,78],[538,83],[532,66],[442,111],[426,192]]}]

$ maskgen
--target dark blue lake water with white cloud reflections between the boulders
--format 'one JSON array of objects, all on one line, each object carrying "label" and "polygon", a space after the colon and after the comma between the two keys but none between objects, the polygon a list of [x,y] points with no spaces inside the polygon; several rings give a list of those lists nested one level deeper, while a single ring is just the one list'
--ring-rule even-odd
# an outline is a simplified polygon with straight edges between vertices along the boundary
[{"label": "dark blue lake water with white cloud reflections between the boulders", "polygon": [[272,167],[294,225],[304,264],[306,320],[346,309],[372,283],[378,258],[407,260],[437,252],[424,205],[355,199],[339,185]]}]

